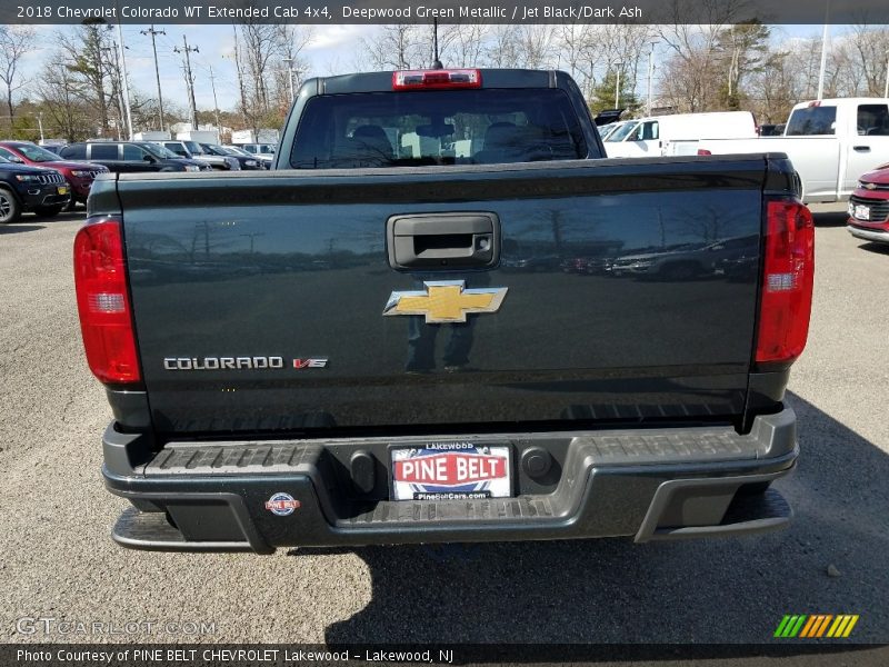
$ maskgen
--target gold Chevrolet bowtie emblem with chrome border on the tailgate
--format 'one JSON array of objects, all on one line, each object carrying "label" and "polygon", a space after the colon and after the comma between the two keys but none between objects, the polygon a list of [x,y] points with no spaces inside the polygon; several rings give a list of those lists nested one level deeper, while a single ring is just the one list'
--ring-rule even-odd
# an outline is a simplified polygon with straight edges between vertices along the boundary
[{"label": "gold Chevrolet bowtie emblem with chrome border on the tailgate", "polygon": [[506,287],[467,289],[463,280],[423,282],[424,290],[392,292],[383,315],[423,315],[427,325],[465,322],[473,312],[497,312]]}]

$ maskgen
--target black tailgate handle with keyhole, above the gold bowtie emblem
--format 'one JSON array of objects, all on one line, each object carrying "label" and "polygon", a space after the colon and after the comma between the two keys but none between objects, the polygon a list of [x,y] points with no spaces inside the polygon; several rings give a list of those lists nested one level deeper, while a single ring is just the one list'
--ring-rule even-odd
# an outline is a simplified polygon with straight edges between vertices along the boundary
[{"label": "black tailgate handle with keyhole, above the gold bowtie emblem", "polygon": [[389,266],[399,271],[492,269],[500,262],[496,213],[392,216],[386,221]]}]

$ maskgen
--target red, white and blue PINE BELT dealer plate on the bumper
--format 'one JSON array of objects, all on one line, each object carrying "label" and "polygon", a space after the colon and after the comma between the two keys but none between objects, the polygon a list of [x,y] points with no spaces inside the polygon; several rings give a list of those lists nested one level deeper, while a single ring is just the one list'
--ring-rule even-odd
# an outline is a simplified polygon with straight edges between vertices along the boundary
[{"label": "red, white and blue PINE BELT dealer plate on the bumper", "polygon": [[423,442],[391,450],[393,500],[508,498],[511,448],[472,442]]}]

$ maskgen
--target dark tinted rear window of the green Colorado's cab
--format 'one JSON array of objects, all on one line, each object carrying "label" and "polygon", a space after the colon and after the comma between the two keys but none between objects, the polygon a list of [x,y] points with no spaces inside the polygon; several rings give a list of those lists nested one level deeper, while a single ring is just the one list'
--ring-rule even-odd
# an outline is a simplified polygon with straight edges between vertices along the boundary
[{"label": "dark tinted rear window of the green Colorado's cab", "polygon": [[557,89],[322,96],[309,101],[296,169],[488,165],[587,157],[577,113]]}]

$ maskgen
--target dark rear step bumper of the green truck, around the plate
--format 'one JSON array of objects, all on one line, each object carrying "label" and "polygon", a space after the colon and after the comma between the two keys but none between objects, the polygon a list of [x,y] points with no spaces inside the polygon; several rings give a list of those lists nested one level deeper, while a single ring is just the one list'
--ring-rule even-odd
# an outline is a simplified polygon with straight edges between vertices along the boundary
[{"label": "dark rear step bumper of the green truck, around the plate", "polygon": [[[103,439],[106,485],[134,505],[113,538],[138,549],[262,554],[292,546],[609,536],[642,542],[771,530],[792,515],[773,489],[738,492],[792,469],[798,447],[789,408],[758,417],[747,436],[708,426],[459,439],[508,441],[517,497],[371,498],[388,485],[388,448],[418,438],[178,442],[146,457],[144,436],[111,425]],[[553,459],[535,478],[526,452],[540,449]],[[358,451],[368,457],[356,465]],[[273,514],[267,502],[276,494],[298,507]]]}]

